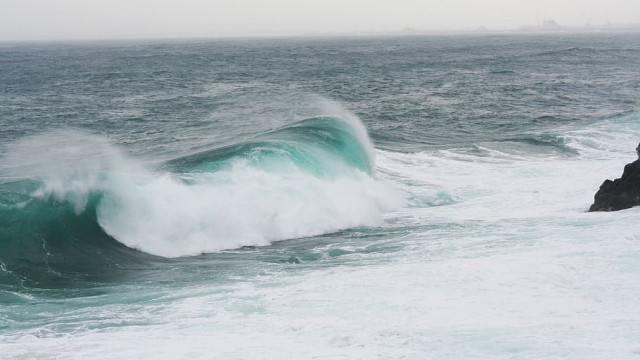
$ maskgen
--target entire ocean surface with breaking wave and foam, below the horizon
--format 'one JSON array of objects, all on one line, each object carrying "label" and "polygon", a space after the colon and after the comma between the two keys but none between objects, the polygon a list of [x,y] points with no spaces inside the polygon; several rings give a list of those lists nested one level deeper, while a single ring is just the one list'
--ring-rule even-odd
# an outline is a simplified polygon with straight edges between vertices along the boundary
[{"label": "entire ocean surface with breaking wave and foam, below the horizon", "polygon": [[640,35],[0,44],[3,359],[632,359]]}]

